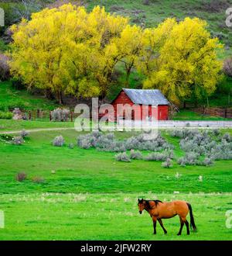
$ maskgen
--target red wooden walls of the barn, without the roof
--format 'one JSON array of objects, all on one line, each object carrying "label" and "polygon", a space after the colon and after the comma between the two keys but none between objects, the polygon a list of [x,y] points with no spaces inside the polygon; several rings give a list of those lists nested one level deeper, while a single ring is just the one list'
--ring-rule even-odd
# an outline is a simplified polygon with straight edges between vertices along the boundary
[{"label": "red wooden walls of the barn, without the roof", "polygon": [[[126,95],[125,92],[121,91],[121,93],[118,95],[116,99],[112,102],[112,105],[114,106],[114,119],[117,118],[117,105],[118,104],[128,104],[130,106],[134,106],[135,113],[137,111],[140,111],[141,116],[134,116],[132,112],[132,119],[146,119],[147,117],[152,116],[152,106],[148,106],[148,112],[142,112],[142,105],[134,105],[133,102],[131,102],[131,99],[129,99],[128,95]],[[138,109],[139,108],[139,109]],[[121,116],[123,117],[123,116]],[[155,116],[154,116],[155,117]],[[158,119],[159,120],[167,120],[169,118],[169,106],[168,105],[159,105],[158,106]],[[113,118],[112,118],[113,119]]]}]

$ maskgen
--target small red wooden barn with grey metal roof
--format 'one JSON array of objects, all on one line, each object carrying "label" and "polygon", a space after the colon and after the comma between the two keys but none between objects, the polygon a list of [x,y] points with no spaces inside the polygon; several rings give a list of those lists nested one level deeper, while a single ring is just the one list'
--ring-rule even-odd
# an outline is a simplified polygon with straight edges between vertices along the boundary
[{"label": "small red wooden barn with grey metal roof", "polygon": [[[152,117],[152,106],[157,106],[157,118],[167,120],[169,118],[169,101],[159,90],[141,90],[123,88],[116,99],[111,103],[114,106],[114,118],[117,116],[125,119],[126,106],[133,106],[132,119],[148,119]],[[123,112],[117,112],[117,106],[125,106]],[[148,111],[142,111],[142,106],[148,108]],[[136,115],[135,112],[140,112]]]}]

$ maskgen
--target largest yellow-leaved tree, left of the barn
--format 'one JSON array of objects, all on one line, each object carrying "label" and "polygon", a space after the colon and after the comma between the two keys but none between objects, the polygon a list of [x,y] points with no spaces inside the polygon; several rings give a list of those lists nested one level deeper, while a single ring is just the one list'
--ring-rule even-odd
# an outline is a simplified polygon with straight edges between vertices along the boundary
[{"label": "largest yellow-leaved tree, left of the barn", "polygon": [[98,6],[90,13],[71,4],[34,13],[12,26],[12,73],[51,90],[60,103],[63,93],[104,96],[121,59],[114,40],[127,25]]}]

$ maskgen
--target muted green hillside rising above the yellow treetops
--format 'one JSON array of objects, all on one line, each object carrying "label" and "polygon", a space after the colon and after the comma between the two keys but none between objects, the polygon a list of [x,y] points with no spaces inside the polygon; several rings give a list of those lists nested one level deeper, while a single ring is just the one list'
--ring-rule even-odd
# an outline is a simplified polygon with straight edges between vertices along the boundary
[{"label": "muted green hillside rising above the yellow treetops", "polygon": [[[17,16],[15,9],[22,9],[21,1],[2,1],[0,7],[5,9],[6,25],[12,22],[12,17]],[[36,1],[33,1],[36,2]],[[40,8],[55,2],[54,0],[37,1]],[[69,2],[69,1],[60,1]],[[226,9],[232,4],[230,0],[94,0],[94,1],[70,1],[80,2],[88,10],[94,8],[94,5],[105,6],[107,12],[115,12],[118,15],[129,16],[131,23],[141,26],[157,26],[168,17],[176,17],[181,20],[186,16],[199,17],[208,22],[209,31],[212,36],[217,36],[225,44],[223,58],[232,54],[232,29],[225,24]],[[21,6],[21,7],[20,7]],[[34,7],[38,9],[36,5]],[[30,7],[30,9],[33,9]],[[14,18],[16,19],[16,18]],[[0,43],[1,44],[1,43]]]}]

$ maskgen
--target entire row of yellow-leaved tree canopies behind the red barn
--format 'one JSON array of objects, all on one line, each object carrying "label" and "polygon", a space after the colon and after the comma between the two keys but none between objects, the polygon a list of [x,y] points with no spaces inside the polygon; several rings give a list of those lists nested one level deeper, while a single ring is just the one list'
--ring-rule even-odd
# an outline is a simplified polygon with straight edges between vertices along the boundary
[{"label": "entire row of yellow-leaved tree canopies behind the red barn", "polygon": [[12,26],[12,74],[29,87],[90,98],[104,96],[115,68],[125,68],[125,86],[133,69],[144,74],[143,88],[159,88],[172,102],[194,94],[210,95],[221,64],[206,22],[166,19],[156,28],[131,26],[128,18],[104,8],[62,5],[32,14]]}]

